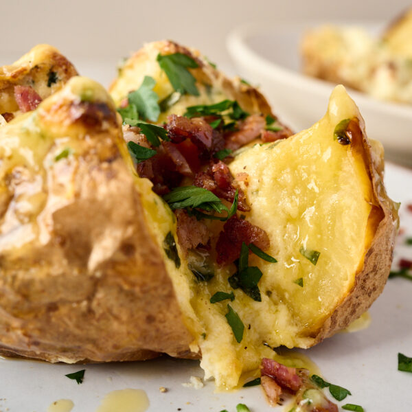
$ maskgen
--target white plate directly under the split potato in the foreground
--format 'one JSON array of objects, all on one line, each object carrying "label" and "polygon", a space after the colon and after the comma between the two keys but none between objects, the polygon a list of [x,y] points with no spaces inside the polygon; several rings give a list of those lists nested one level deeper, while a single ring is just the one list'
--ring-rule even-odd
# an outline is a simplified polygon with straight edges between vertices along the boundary
[{"label": "white plate directly under the split potato in the foreground", "polygon": [[[401,227],[395,268],[399,258],[412,259],[412,247],[402,244],[412,237],[412,171],[390,163],[385,176],[391,198],[401,201]],[[390,279],[384,293],[370,310],[369,328],[355,333],[337,334],[307,354],[325,378],[352,391],[339,404],[361,404],[365,412],[412,410],[412,374],[397,370],[398,352],[412,356],[412,282]],[[77,385],[65,374],[86,369],[84,382]],[[148,411],[219,412],[236,410],[244,403],[251,412],[282,411],[268,407],[260,387],[231,393],[214,393],[214,383],[203,389],[183,387],[190,376],[202,377],[198,361],[159,358],[137,363],[64,365],[0,358],[0,411],[45,412],[55,400],[70,399],[73,412],[96,411],[106,393],[117,389],[144,389]],[[168,391],[161,393],[159,387]],[[126,412],[121,407],[111,412]]]}]

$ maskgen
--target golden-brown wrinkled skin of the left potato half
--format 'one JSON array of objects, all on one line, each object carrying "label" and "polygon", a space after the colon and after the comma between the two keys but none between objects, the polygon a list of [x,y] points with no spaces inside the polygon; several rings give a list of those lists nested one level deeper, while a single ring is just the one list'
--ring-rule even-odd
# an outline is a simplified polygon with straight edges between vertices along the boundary
[{"label": "golden-brown wrinkled skin of the left potato half", "polygon": [[[187,356],[192,336],[119,150],[113,102],[54,95],[39,109],[43,131],[70,135],[76,152],[37,174],[47,201],[45,240],[0,253],[0,353],[68,363]],[[49,150],[58,144],[52,139]],[[3,176],[10,194],[3,225],[21,176],[36,177],[17,169]]]}]

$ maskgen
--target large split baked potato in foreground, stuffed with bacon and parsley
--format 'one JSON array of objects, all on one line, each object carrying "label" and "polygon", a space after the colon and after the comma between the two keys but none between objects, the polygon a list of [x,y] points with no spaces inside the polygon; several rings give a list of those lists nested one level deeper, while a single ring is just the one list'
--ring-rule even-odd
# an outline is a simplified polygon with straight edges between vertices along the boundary
[{"label": "large split baked potato in foreground, stuffed with bacon and parsley", "polygon": [[[150,119],[126,126],[135,134],[126,144],[116,106],[131,106],[128,93],[145,76],[158,102],[175,93],[155,62],[176,50],[199,59],[188,70],[198,95],[181,93],[159,111],[166,124],[149,127],[157,144]],[[382,147],[368,143],[342,86],[323,119],[288,137],[258,91],[166,42],[126,63],[111,94],[115,103],[74,77],[0,128],[0,353],[67,363],[198,357],[206,378],[230,389],[276,357],[274,348],[318,343],[382,292],[398,217],[382,183]],[[198,116],[223,99],[229,115]],[[202,106],[194,117],[177,116],[192,104]],[[260,113],[268,124],[252,136]],[[196,126],[183,128],[183,141],[182,124]],[[146,149],[141,157],[136,146]],[[174,163],[179,179],[165,168],[158,184],[154,159],[171,147],[198,150],[215,181],[205,165],[190,173],[192,151],[189,169]],[[214,158],[229,147],[226,163]],[[199,183],[220,180],[236,193]],[[179,198],[187,187],[209,203],[190,209]]]}]

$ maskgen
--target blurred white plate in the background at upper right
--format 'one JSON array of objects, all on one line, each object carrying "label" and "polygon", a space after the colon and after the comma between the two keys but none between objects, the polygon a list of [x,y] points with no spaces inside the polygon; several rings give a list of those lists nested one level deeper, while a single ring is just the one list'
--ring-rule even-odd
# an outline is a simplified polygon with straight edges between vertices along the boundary
[{"label": "blurred white plate in the background at upper right", "polygon": [[[341,22],[340,22],[341,23]],[[231,32],[227,49],[246,80],[262,86],[279,118],[302,130],[325,113],[334,84],[300,73],[299,43],[319,24],[249,24]],[[378,32],[380,25],[363,25]],[[412,105],[383,102],[350,90],[365,118],[369,137],[380,140],[388,158],[412,165]]]}]

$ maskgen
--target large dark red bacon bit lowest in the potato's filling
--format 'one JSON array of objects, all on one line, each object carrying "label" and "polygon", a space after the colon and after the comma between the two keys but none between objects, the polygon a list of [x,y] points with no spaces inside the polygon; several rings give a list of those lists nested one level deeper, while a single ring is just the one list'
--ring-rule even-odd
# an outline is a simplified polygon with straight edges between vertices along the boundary
[{"label": "large dark red bacon bit lowest in the potato's filling", "polygon": [[216,243],[216,252],[218,253],[216,262],[227,264],[238,259],[242,242],[254,243],[262,250],[267,250],[271,245],[271,241],[263,229],[252,225],[247,220],[238,218],[238,216],[232,216],[223,226],[223,231],[219,233]]}]

